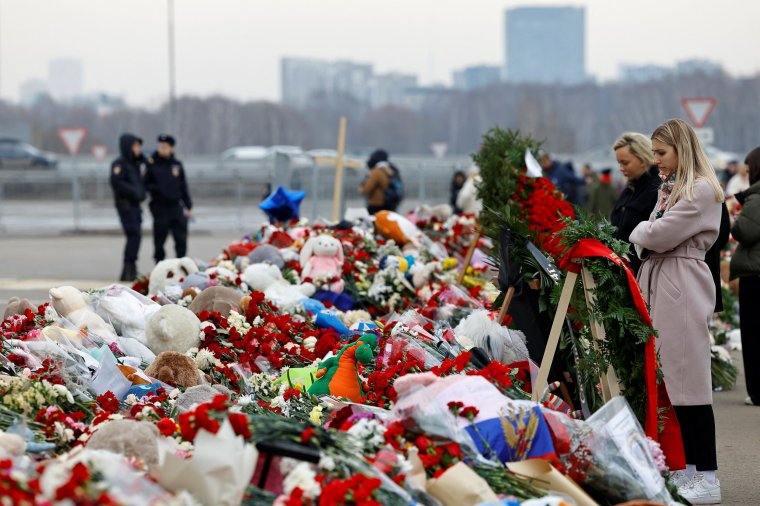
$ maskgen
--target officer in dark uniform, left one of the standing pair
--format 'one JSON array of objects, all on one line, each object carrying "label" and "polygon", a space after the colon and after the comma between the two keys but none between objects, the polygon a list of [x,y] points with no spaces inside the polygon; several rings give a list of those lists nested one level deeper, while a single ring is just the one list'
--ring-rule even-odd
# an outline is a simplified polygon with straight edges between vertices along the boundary
[{"label": "officer in dark uniform, left one of the standing pair", "polygon": [[119,152],[121,156],[111,163],[110,178],[114,204],[127,238],[119,280],[134,281],[137,279],[137,255],[142,238],[140,202],[145,200],[145,187],[141,177],[141,172],[145,170],[142,139],[133,134],[122,135],[119,138]]}]

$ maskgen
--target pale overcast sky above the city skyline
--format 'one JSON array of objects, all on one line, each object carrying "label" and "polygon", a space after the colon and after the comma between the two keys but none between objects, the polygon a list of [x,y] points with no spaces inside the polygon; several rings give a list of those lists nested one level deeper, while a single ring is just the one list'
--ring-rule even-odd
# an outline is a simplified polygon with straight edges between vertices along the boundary
[{"label": "pale overcast sky above the city skyline", "polygon": [[[504,10],[586,7],[586,70],[620,63],[722,63],[760,71],[760,0],[175,0],[177,91],[280,97],[282,56],[350,59],[422,84],[452,70],[504,61]],[[86,91],[154,106],[167,96],[165,0],[0,0],[0,96],[77,58]],[[536,37],[541,34],[537,33]]]}]

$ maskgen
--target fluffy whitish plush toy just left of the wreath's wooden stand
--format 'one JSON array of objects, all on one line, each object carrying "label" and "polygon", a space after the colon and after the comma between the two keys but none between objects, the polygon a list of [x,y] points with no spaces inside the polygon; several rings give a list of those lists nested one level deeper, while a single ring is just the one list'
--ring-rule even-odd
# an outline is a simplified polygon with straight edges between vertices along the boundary
[{"label": "fluffy whitish plush toy just left of the wreath's wooden stand", "polygon": [[511,364],[528,359],[525,334],[499,325],[485,309],[477,309],[460,321],[454,333],[465,348],[481,348],[491,360]]}]

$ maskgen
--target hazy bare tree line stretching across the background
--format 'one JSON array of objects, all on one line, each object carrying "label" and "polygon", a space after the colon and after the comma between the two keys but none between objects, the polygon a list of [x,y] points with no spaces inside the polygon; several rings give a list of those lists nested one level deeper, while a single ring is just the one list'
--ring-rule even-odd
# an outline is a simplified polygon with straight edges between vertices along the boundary
[{"label": "hazy bare tree line stretching across the background", "polygon": [[477,149],[489,128],[500,126],[545,139],[551,151],[580,153],[610,146],[623,131],[648,133],[667,118],[685,118],[681,99],[686,97],[717,99],[707,124],[715,130],[717,147],[746,153],[760,144],[760,75],[726,74],[578,86],[504,83],[469,93],[433,94],[414,109],[369,109],[351,96],[315,95],[303,109],[188,96],[175,103],[173,129],[168,104],[157,110],[128,107],[99,113],[94,106],[43,98],[28,108],[0,103],[0,123],[29,124],[37,147],[54,152],[64,152],[57,135],[62,126],[89,129],[83,151],[92,144],[106,144],[113,153],[125,131],[142,135],[152,145],[156,135],[171,130],[183,154],[219,154],[243,145],[333,148],[338,118],[345,115],[350,151],[382,146],[391,153],[429,154],[432,143],[445,142],[450,154],[466,154]]}]

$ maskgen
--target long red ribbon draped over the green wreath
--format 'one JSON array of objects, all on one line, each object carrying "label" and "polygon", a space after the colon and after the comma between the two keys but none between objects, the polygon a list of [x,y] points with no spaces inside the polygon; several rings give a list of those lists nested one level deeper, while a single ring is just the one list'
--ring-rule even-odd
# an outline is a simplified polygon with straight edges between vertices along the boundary
[{"label": "long red ribbon draped over the green wreath", "polygon": [[[628,288],[631,291],[634,306],[644,323],[652,326],[652,317],[649,315],[646,301],[641,294],[641,288],[636,281],[636,277],[633,275],[633,271],[631,271],[622,258],[600,241],[596,239],[582,239],[578,241],[560,259],[559,267],[577,274],[581,271],[581,263],[578,260],[592,257],[606,258],[623,268],[628,278]],[[655,352],[654,335],[651,335],[644,345],[644,381],[647,391],[644,432],[647,436],[660,443],[668,467],[671,470],[684,469],[686,467],[686,457],[683,450],[683,441],[681,440],[681,427],[678,425],[675,410],[670,403],[665,383],[662,382],[659,386],[657,385],[657,354]],[[659,409],[666,410],[662,431],[658,430]]]}]

